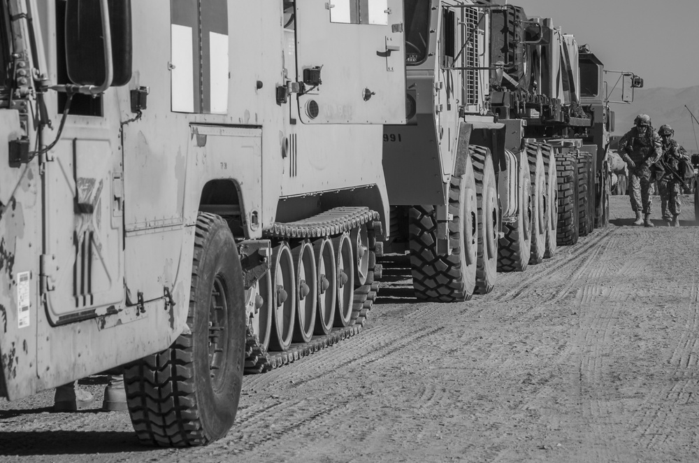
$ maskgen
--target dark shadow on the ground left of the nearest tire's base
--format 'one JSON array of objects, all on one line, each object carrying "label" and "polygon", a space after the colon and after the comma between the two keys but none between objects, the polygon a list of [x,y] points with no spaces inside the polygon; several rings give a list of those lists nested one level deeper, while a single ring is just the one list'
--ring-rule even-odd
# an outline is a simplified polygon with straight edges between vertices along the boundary
[{"label": "dark shadow on the ground left of the nearest tire's base", "polygon": [[152,451],[133,431],[0,431],[0,456],[83,455]]}]

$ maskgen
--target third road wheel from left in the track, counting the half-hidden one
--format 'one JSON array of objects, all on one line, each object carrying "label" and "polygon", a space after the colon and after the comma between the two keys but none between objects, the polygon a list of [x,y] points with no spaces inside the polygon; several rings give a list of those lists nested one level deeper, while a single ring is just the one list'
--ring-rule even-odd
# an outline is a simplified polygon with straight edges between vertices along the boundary
[{"label": "third road wheel from left in the track, counting the half-hidden one", "polygon": [[308,241],[301,241],[294,250],[296,269],[296,326],[293,340],[296,343],[308,343],[315,330],[315,312],[317,310],[317,280],[313,246]]}]

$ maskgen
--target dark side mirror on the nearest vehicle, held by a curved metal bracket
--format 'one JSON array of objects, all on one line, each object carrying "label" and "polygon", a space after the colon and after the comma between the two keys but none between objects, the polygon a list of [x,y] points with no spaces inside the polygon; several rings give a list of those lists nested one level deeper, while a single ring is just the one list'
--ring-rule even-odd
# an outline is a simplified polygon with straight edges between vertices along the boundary
[{"label": "dark side mirror on the nearest vehicle, held by a curved metal bracket", "polygon": [[66,67],[71,82],[99,87],[100,92],[110,85],[126,85],[132,56],[131,0],[67,0]]}]

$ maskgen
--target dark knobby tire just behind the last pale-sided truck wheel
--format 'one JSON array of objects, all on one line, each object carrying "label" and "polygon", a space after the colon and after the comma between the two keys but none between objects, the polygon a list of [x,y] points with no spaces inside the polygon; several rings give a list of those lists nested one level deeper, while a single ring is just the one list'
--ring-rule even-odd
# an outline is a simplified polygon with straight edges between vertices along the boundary
[{"label": "dark knobby tire just behind the last pale-sided truck wheel", "polygon": [[577,158],[568,153],[556,155],[556,173],[558,178],[558,227],[556,243],[569,246],[577,243],[579,232],[579,213],[577,207]]}]

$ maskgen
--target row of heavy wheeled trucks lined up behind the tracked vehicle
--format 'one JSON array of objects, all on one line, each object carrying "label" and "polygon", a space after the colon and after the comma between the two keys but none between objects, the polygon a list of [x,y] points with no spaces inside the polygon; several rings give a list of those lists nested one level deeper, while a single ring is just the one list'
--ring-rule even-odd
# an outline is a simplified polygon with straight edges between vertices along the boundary
[{"label": "row of heavy wheeled trucks lined up behind the tracked vehicle", "polygon": [[[384,250],[415,294],[489,292],[608,220],[613,113],[601,62],[518,6],[405,0],[408,124],[384,128]],[[624,97],[633,97],[623,77]]]}]

